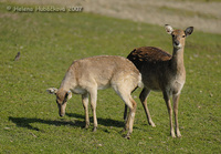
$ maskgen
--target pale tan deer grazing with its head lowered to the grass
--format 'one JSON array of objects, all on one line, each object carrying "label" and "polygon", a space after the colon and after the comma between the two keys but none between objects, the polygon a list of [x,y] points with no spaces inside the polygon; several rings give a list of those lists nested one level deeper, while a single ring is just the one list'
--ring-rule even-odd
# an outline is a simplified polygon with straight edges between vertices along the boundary
[{"label": "pale tan deer grazing with its head lowered to the grass", "polygon": [[125,137],[129,138],[136,112],[136,102],[130,93],[139,85],[143,85],[141,74],[129,60],[122,57],[99,55],[74,61],[69,68],[60,89],[51,88],[48,89],[48,92],[56,95],[60,116],[64,116],[66,102],[72,97],[72,93],[82,94],[86,129],[90,125],[87,106],[88,96],[91,96],[94,131],[96,131],[97,90],[112,86],[129,107],[129,115],[124,129],[124,131],[128,130]]}]

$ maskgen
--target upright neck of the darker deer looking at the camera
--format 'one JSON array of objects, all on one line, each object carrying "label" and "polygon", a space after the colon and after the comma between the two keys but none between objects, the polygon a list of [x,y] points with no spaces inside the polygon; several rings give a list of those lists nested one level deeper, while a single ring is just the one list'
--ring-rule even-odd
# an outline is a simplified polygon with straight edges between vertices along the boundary
[{"label": "upright neck of the darker deer looking at the camera", "polygon": [[171,66],[172,66],[172,70],[177,74],[185,73],[183,51],[185,51],[185,48],[180,48],[180,49],[173,48]]}]

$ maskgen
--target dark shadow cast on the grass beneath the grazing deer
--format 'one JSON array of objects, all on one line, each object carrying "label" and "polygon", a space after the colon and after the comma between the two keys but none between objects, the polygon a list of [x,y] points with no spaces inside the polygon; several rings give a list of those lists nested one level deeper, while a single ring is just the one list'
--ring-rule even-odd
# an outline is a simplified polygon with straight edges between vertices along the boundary
[{"label": "dark shadow cast on the grass beneath the grazing deer", "polygon": [[[81,114],[66,113],[66,115],[71,116],[71,117],[84,120],[84,115],[81,115]],[[42,123],[42,124],[49,124],[49,125],[55,125],[55,126],[61,126],[61,125],[71,125],[71,126],[77,126],[77,127],[85,126],[85,122],[80,121],[80,120],[74,120],[74,122],[72,122],[72,121],[64,121],[63,119],[53,121],[53,120],[9,116],[9,121],[12,121],[13,123],[15,123],[17,126],[27,127],[29,130],[35,130],[35,131],[40,131],[40,129],[32,126],[31,125],[32,123]],[[124,126],[124,122],[119,122],[119,121],[115,121],[115,120],[110,120],[110,119],[97,119],[97,121],[98,121],[98,124],[102,124],[105,126],[117,126],[117,127]],[[91,122],[93,122],[92,119],[91,119]]]}]

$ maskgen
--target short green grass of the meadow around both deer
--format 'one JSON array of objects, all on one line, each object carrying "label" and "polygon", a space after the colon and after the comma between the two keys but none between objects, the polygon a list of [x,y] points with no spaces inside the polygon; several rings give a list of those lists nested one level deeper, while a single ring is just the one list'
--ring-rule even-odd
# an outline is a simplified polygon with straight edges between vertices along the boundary
[{"label": "short green grass of the meadow around both deer", "polygon": [[[124,104],[113,90],[98,92],[96,133],[92,126],[83,129],[80,95],[70,100],[61,119],[55,96],[45,90],[59,88],[76,59],[126,57],[143,45],[171,51],[164,28],[88,13],[14,13],[6,8],[0,3],[0,153],[221,152],[220,34],[196,28],[187,39],[187,81],[179,105],[182,137],[170,137],[161,93],[152,92],[148,99],[157,127],[147,124],[137,90],[134,132],[131,140],[125,140],[119,133]],[[21,59],[13,61],[19,51]]]}]

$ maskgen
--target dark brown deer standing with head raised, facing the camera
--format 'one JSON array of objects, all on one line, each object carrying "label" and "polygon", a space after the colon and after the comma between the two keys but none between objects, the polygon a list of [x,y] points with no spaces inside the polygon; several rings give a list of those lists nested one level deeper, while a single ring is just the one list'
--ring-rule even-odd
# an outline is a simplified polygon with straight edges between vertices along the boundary
[{"label": "dark brown deer standing with head raised, facing the camera", "polygon": [[[139,100],[144,106],[149,125],[155,127],[149,110],[147,97],[150,91],[161,91],[169,113],[170,135],[181,137],[178,124],[178,102],[181,90],[186,82],[186,70],[183,62],[185,41],[193,32],[193,27],[183,30],[173,30],[171,25],[165,24],[166,32],[172,37],[173,52],[168,52],[155,47],[141,47],[134,49],[127,57],[141,73],[144,89],[139,94]],[[170,103],[172,96],[175,127],[172,123],[172,107]],[[124,119],[127,116],[125,106]]]}]

